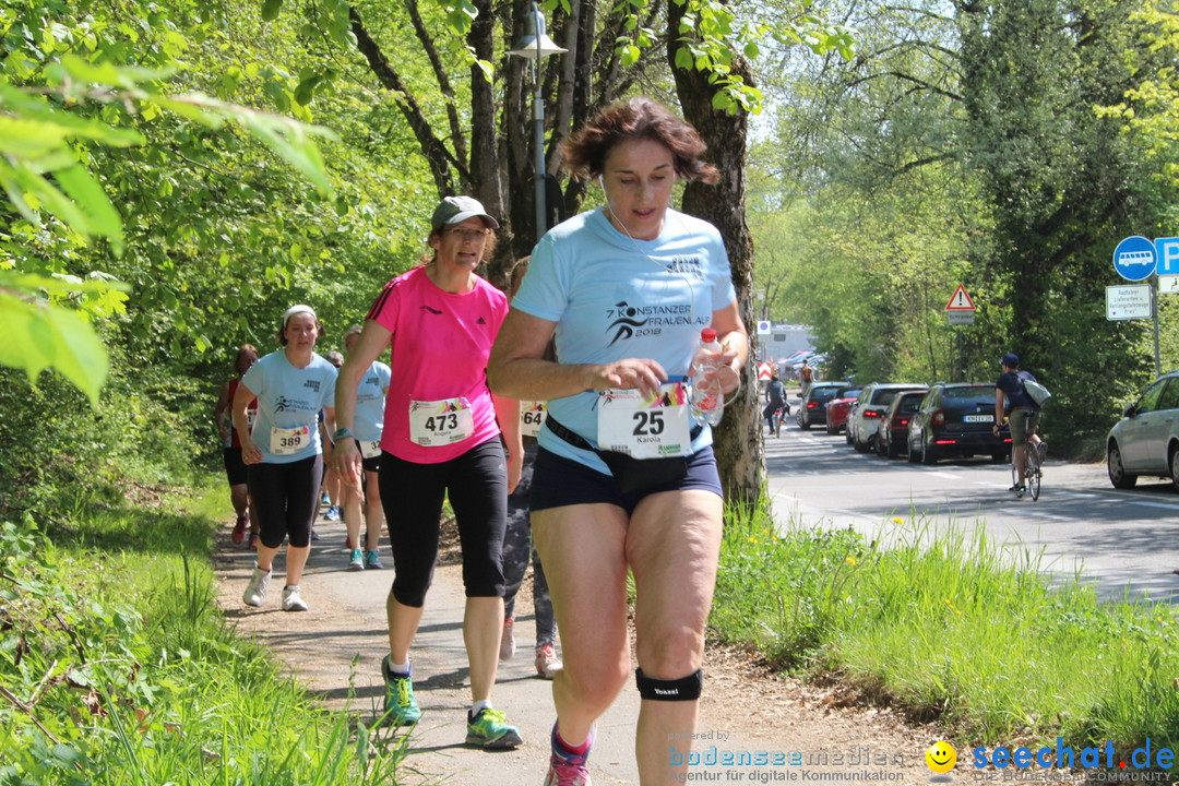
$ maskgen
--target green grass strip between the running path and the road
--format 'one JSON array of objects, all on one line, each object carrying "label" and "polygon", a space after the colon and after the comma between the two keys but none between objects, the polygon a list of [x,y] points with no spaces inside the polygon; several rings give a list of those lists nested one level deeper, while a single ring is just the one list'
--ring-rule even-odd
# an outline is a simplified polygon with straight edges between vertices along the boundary
[{"label": "green grass strip between the running path and the road", "polygon": [[1041,567],[1026,548],[913,520],[869,542],[798,526],[778,535],[766,510],[730,509],[711,625],[971,745],[1060,734],[1174,748],[1174,609],[1099,602]]}]

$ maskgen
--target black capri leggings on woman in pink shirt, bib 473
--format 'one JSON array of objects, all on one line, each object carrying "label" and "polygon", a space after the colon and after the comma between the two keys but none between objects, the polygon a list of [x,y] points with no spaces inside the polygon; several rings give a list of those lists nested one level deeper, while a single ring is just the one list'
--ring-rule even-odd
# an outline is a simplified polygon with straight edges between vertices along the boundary
[{"label": "black capri leggings on woman in pink shirt, bib 473", "polygon": [[503,596],[508,480],[499,437],[437,464],[417,464],[382,453],[380,478],[396,570],[393,596],[399,603],[421,608],[426,602],[447,495],[459,524],[467,597]]}]

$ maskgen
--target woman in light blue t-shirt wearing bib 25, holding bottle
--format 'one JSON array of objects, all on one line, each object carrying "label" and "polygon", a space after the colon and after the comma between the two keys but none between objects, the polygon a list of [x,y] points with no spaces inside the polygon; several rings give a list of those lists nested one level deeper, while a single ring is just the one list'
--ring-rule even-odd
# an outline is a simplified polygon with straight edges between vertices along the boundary
[{"label": "woman in light blue t-shirt wearing bib 25, holding bottle", "polygon": [[[594,720],[630,673],[630,569],[643,698],[635,749],[640,782],[654,786],[687,774],[668,764],[667,740],[690,741],[696,728],[722,533],[711,431],[690,429],[677,383],[702,328],[719,336],[723,366],[709,378],[725,392],[738,385],[749,343],[719,233],[670,207],[677,179],[718,177],[699,158],[696,130],[632,98],[564,152],[571,171],[598,179],[607,206],[536,244],[488,364],[494,392],[548,402],[532,526],[565,668],[553,682],[545,782],[590,784]],[[559,362],[544,358],[553,337]],[[601,444],[617,447],[611,465]],[[635,460],[619,465],[620,450]]]}]

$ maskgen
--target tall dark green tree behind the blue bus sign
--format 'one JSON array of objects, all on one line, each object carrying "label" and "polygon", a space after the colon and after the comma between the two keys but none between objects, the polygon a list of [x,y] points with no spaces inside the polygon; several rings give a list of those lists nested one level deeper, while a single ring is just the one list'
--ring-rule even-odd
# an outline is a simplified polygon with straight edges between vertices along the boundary
[{"label": "tall dark green tree behind the blue bus sign", "polygon": [[[1140,328],[1106,323],[1114,245],[1159,219],[1144,159],[1098,107],[1121,101],[1157,54],[1139,48],[1142,4],[1030,0],[959,5],[968,163],[995,219],[976,264],[1009,310],[1002,344],[1046,377],[1069,438],[1099,440],[1141,378]],[[996,344],[999,350],[1001,344]],[[1111,401],[1113,399],[1113,401]]]}]

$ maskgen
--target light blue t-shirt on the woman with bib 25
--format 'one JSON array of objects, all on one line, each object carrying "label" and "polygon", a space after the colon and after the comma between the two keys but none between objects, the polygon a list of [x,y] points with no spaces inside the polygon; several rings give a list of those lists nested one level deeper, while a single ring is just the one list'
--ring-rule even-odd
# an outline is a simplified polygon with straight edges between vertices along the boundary
[{"label": "light blue t-shirt on the woman with bib 25", "polygon": [[[572,236],[572,237],[571,237]],[[561,363],[658,361],[672,379],[687,374],[712,312],[736,299],[720,233],[698,218],[668,210],[654,240],[632,239],[600,210],[574,216],[549,230],[532,252],[528,275],[512,305],[556,323]],[[549,414],[598,443],[598,394],[587,390],[549,402]],[[594,455],[573,448],[548,429],[541,445],[608,473]],[[709,429],[692,443],[712,443]]]}]

